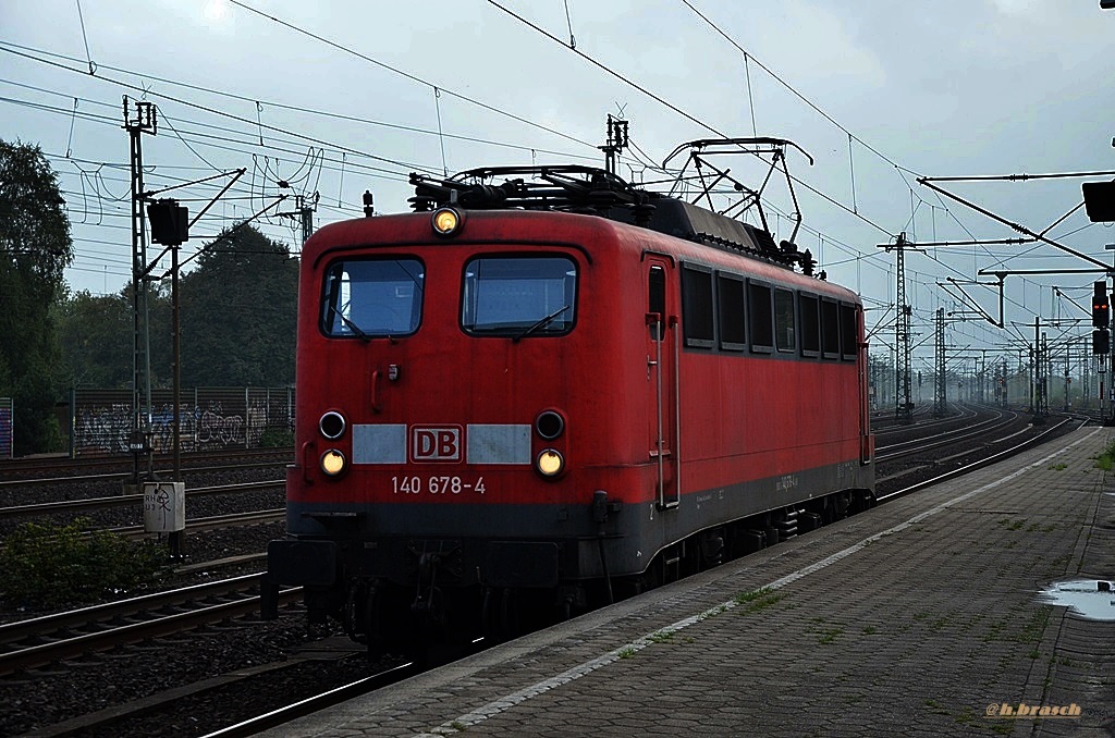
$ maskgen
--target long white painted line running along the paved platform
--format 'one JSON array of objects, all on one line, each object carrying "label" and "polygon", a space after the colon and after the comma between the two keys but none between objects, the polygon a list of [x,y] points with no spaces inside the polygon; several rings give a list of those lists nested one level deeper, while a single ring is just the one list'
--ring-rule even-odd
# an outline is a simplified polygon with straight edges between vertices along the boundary
[{"label": "long white painted line running along the paved platform", "polygon": [[[889,528],[886,528],[885,531],[883,531],[881,533],[876,533],[874,535],[867,536],[863,541],[860,541],[859,543],[855,543],[855,544],[849,546],[847,548],[844,548],[843,551],[837,551],[836,553],[832,554],[831,556],[826,556],[826,557],[822,559],[821,561],[818,561],[818,562],[816,562],[814,564],[809,564],[808,566],[803,566],[802,569],[797,570],[796,572],[794,572],[792,574],[787,574],[786,576],[783,576],[782,579],[777,579],[777,580],[770,582],[769,584],[766,584],[766,585],[760,586],[758,589],[759,590],[763,590],[763,589],[766,589],[766,590],[778,590],[778,589],[782,589],[782,588],[786,586],[787,584],[792,584],[793,582],[796,582],[797,580],[802,579],[803,576],[808,576],[809,574],[813,574],[815,572],[821,571],[822,569],[831,566],[831,565],[835,564],[836,562],[841,561],[842,559],[846,559],[846,557],[851,556],[852,554],[854,554],[855,552],[863,550],[864,547],[869,546],[870,544],[874,543],[875,541],[879,541],[880,538],[883,538],[883,537],[889,536],[889,535],[894,535],[895,533],[900,533],[900,532],[906,530],[908,527],[910,527],[911,525],[913,525],[915,523],[920,523],[921,521],[925,519],[927,517],[932,517],[933,515],[937,515],[938,513],[943,512],[943,511],[948,509],[949,507],[952,507],[957,503],[962,503],[966,499],[970,499],[971,497],[975,497],[976,495],[980,494],[981,492],[987,492],[988,489],[993,489],[995,487],[998,487],[998,486],[1000,486],[1002,484],[1006,484],[1007,482],[1010,482],[1010,480],[1012,480],[1012,479],[1021,476],[1022,474],[1029,472],[1032,468],[1036,468],[1036,467],[1045,465],[1050,459],[1056,458],[1057,456],[1060,456],[1061,454],[1064,454],[1068,449],[1073,448],[1077,444],[1082,444],[1085,440],[1087,440],[1088,438],[1092,438],[1094,435],[1096,435],[1101,430],[1103,430],[1103,428],[1096,428],[1095,430],[1093,430],[1092,433],[1089,433],[1087,436],[1084,436],[1083,438],[1078,438],[1075,441],[1073,441],[1072,444],[1069,444],[1068,446],[1065,446],[1064,448],[1060,448],[1060,449],[1054,451],[1053,454],[1049,454],[1048,456],[1046,456],[1046,457],[1044,457],[1041,459],[1038,459],[1037,462],[1034,462],[1032,464],[1030,464],[1028,466],[1024,466],[1020,469],[1011,472],[1010,474],[1008,474],[1005,477],[1000,477],[999,479],[996,479],[995,482],[989,482],[988,484],[983,485],[982,487],[977,487],[976,489],[972,489],[971,492],[966,492],[964,494],[959,495],[958,497],[953,497],[952,499],[949,499],[948,502],[943,502],[940,505],[938,505],[937,507],[931,507],[930,509],[927,509],[923,513],[919,513],[919,514],[914,515],[913,517],[911,517],[910,519],[908,519],[908,521],[905,521],[903,523],[899,523],[898,525],[895,525],[893,527],[889,527]],[[504,712],[505,710],[508,710],[510,708],[515,707],[516,705],[518,705],[521,702],[525,702],[526,700],[531,699],[532,697],[537,697],[539,695],[543,695],[545,692],[549,692],[551,689],[555,689],[558,687],[561,687],[562,684],[568,684],[569,682],[574,681],[576,679],[580,679],[581,677],[584,677],[585,674],[590,674],[593,671],[600,669],[601,667],[607,667],[609,663],[613,663],[615,661],[619,661],[620,658],[621,658],[620,657],[621,653],[623,653],[626,656],[632,656],[636,652],[641,651],[642,649],[647,648],[651,643],[655,643],[655,642],[661,640],[661,638],[665,637],[665,635],[668,635],[668,634],[675,633],[675,632],[677,632],[679,630],[683,630],[686,628],[689,628],[694,623],[698,623],[698,622],[700,622],[700,621],[702,621],[702,620],[705,620],[707,618],[711,618],[711,616],[718,615],[718,614],[720,614],[723,612],[727,612],[728,610],[731,610],[733,608],[736,608],[736,606],[738,606],[738,603],[735,600],[729,600],[729,601],[723,602],[723,603],[720,603],[720,604],[718,604],[718,605],[716,605],[714,608],[709,608],[705,612],[698,613],[696,615],[690,615],[689,618],[685,618],[682,620],[679,620],[679,621],[677,621],[677,622],[675,622],[675,623],[672,623],[670,625],[667,625],[665,628],[660,628],[660,629],[656,630],[652,633],[647,633],[646,635],[643,635],[641,638],[637,638],[636,640],[631,641],[630,643],[621,645],[618,649],[613,649],[613,650],[609,651],[608,653],[604,653],[602,656],[597,657],[595,659],[592,659],[591,661],[585,661],[583,663],[580,663],[580,664],[573,667],[572,669],[568,669],[568,670],[561,672],[560,674],[558,674],[555,677],[551,677],[550,679],[545,679],[543,681],[540,681],[540,682],[536,682],[534,684],[531,684],[530,687],[521,689],[517,692],[512,692],[511,695],[506,695],[506,696],[501,697],[501,698],[498,698],[496,700],[493,700],[493,701],[488,702],[487,705],[485,705],[483,707],[476,708],[472,712],[466,712],[465,715],[462,715],[460,717],[456,718],[455,720],[449,720],[448,722],[443,722],[438,727],[432,729],[429,732],[418,734],[418,738],[436,738],[436,737],[439,737],[439,736],[457,735],[462,730],[467,730],[469,727],[472,727],[474,725],[477,725],[479,722],[483,722],[484,720],[487,720],[488,718],[493,718],[493,717],[500,715],[501,712]]]}]

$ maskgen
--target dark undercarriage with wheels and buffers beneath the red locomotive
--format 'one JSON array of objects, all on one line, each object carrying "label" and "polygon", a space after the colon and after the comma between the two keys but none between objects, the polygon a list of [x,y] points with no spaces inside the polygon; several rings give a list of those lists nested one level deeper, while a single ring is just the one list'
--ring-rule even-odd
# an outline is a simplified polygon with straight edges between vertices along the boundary
[{"label": "dark undercarriage with wheels and buffers beneath the red locomotive", "polygon": [[602,540],[397,540],[370,545],[353,541],[341,544],[334,583],[307,586],[306,604],[311,622],[336,619],[371,653],[429,654],[437,648],[466,648],[482,637],[486,643],[502,642],[787,541],[873,504],[866,489],[832,493],[697,532],[661,548],[640,573],[609,576],[602,560],[604,575],[582,579],[566,573],[579,571],[576,556],[586,547],[600,544],[603,557]]}]

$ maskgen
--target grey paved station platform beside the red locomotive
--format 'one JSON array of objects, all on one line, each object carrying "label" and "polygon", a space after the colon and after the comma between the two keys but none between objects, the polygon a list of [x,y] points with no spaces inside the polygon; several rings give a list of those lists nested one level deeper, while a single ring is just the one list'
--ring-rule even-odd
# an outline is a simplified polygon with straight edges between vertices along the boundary
[{"label": "grey paved station platform beside the red locomotive", "polygon": [[1115,735],[1115,620],[1037,599],[1115,579],[1115,478],[1095,468],[1111,436],[1077,430],[265,735]]}]

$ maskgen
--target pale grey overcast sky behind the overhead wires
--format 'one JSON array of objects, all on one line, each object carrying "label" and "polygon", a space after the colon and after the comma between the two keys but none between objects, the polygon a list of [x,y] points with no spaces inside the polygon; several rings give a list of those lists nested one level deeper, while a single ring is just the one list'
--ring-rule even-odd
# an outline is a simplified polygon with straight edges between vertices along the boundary
[{"label": "pale grey overcast sky behind the overhead wires", "polygon": [[[59,172],[77,249],[67,279],[94,293],[130,274],[124,95],[158,107],[157,134],[143,140],[147,188],[246,168],[193,229],[187,254],[280,192],[318,193],[320,226],[359,216],[366,190],[379,212],[405,211],[411,171],[602,164],[608,114],[630,122],[638,148],[620,174],[636,181],[661,179],[648,164],[681,142],[789,138],[814,158],[787,156],[801,181],[797,243],[864,295],[869,324],[885,324],[894,258],[878,244],[900,232],[1022,237],[919,176],[1115,169],[1113,33],[1115,11],[1095,0],[7,0],[0,136],[40,145]],[[765,174],[755,159],[725,163],[750,184]],[[1082,181],[939,186],[1043,232],[1082,202]],[[212,196],[224,182],[178,195]],[[765,202],[787,237],[784,184],[772,182]],[[292,219],[274,215],[291,210],[273,206],[262,223],[297,250]],[[1115,256],[1104,249],[1112,230],[1083,207],[1047,235]],[[959,310],[956,288],[938,284],[947,276],[1088,266],[1035,244],[908,253],[915,340],[927,341],[918,355],[932,355],[933,311]],[[1009,276],[1008,330],[973,319],[950,326],[950,343],[1032,337],[1009,327],[1035,315],[1083,319],[1073,333],[1084,336],[1086,314],[1051,285],[1087,305],[1095,279]],[[993,291],[964,289],[997,315]],[[893,343],[891,331],[873,341]]]}]

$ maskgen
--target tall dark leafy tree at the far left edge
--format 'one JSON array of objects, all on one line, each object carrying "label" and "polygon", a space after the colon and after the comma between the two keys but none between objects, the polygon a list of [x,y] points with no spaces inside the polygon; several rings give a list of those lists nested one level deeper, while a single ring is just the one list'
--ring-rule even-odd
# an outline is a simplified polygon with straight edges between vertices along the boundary
[{"label": "tall dark leafy tree at the far left edge", "polygon": [[14,405],[18,455],[58,443],[60,390],[51,307],[74,260],[58,177],[38,146],[0,140],[0,396]]}]

